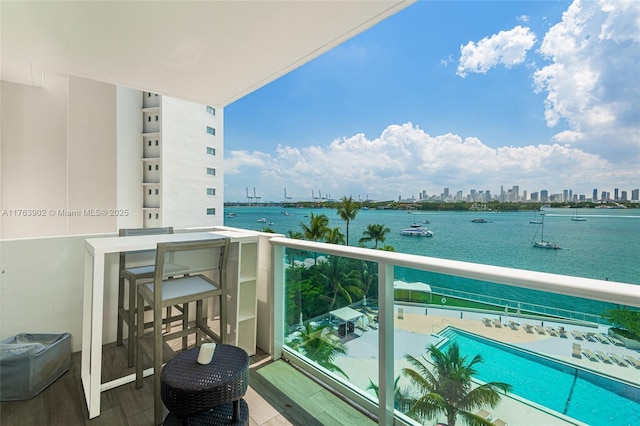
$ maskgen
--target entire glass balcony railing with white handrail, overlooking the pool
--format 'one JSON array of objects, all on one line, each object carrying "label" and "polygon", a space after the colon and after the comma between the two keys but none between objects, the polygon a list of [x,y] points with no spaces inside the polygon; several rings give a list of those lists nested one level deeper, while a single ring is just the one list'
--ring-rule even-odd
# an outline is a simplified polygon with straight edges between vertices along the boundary
[{"label": "entire glass balcony railing with white handrail, overlooking the pool", "polygon": [[[417,409],[416,401],[429,386],[441,389],[436,380],[438,356],[434,354],[450,356],[455,343],[462,364],[481,356],[482,362],[472,366],[466,391],[497,383],[494,390],[499,401],[470,404],[466,410],[471,415],[508,423],[527,418],[532,424],[559,425],[597,424],[605,417],[624,423],[640,417],[640,303],[633,285],[334,245],[272,241],[282,245],[286,253],[285,348],[308,360],[312,352],[300,342],[306,338],[304,333],[317,328],[308,329],[307,325],[328,325],[330,331],[325,333],[335,335],[331,339],[346,350],[333,358],[339,373],[320,363],[316,363],[317,371],[344,385],[336,391],[348,399],[364,394],[375,403],[378,386],[384,382],[381,378],[386,377],[387,388],[393,389],[387,393],[386,406],[395,408],[396,420],[447,423],[442,412],[425,406]],[[327,252],[311,251],[321,247]],[[371,276],[375,278],[366,291],[334,291],[349,287],[356,274],[364,276],[365,269],[374,268],[377,271]],[[383,271],[384,277],[375,276]],[[364,281],[356,280],[353,288],[362,290]],[[332,283],[340,286],[332,287]],[[378,290],[389,287],[393,287],[393,298],[378,295]],[[547,291],[549,288],[557,291]],[[606,302],[594,300],[600,297]],[[385,300],[390,302],[385,304]],[[345,307],[366,316],[369,329],[349,335],[357,327],[354,324],[350,329],[348,322],[360,316],[336,315],[336,319],[332,315]],[[386,365],[382,354],[387,356]],[[411,370],[416,371],[413,378]],[[422,388],[415,380],[421,376],[425,379]],[[382,393],[380,400],[382,405]],[[380,416],[388,412],[375,406],[371,410]]]}]

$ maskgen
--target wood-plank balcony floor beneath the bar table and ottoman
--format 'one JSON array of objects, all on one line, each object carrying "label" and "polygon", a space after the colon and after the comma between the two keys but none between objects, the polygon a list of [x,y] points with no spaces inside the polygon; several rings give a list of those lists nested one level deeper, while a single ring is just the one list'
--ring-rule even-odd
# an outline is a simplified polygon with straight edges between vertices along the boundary
[{"label": "wood-plank balcony floor beneath the bar table and ottoman", "polygon": [[[125,352],[115,345],[104,347],[103,377],[106,380],[126,370]],[[285,361],[268,361],[262,353],[251,357],[251,364],[249,390],[245,396],[250,425],[375,424]],[[149,426],[153,424],[152,388],[151,377],[147,377],[142,389],[129,383],[103,392],[101,414],[89,420],[78,352],[72,354],[69,371],[33,399],[0,403],[0,425]]]}]

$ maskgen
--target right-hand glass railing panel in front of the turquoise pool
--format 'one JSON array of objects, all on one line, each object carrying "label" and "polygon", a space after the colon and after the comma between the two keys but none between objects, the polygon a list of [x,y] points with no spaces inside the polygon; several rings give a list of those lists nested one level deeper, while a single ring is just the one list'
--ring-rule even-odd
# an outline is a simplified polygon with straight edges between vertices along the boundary
[{"label": "right-hand glass railing panel in front of the turquoise pool", "polygon": [[[446,365],[437,360],[454,357],[454,347],[465,358],[463,364],[481,357],[469,376],[472,388],[496,384],[501,401],[474,407],[472,414],[484,410],[513,423],[526,413],[526,418],[538,419],[535,424],[640,418],[640,342],[623,336],[627,332],[613,321],[637,310],[400,267],[395,268],[394,287],[394,347],[413,357],[413,374],[425,382],[438,379],[437,387],[444,383],[437,366]],[[400,410],[422,424],[446,423],[442,412],[420,414],[429,411],[429,404],[416,405],[424,392],[403,370],[406,361],[396,358],[394,366],[402,371],[395,395],[401,401],[409,396],[408,402],[404,399],[408,410]],[[421,366],[430,373],[421,372]],[[508,393],[501,384],[509,386]]]}]

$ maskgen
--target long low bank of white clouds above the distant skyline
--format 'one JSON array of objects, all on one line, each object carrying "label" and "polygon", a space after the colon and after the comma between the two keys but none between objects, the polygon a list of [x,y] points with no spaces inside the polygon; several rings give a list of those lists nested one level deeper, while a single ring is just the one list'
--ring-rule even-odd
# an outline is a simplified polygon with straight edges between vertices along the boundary
[{"label": "long low bank of white clouds above the distant skyline", "polygon": [[[579,137],[565,132],[558,142]],[[390,125],[374,139],[356,134],[326,146],[280,146],[273,155],[231,151],[227,157],[234,165],[225,176],[227,200],[242,200],[245,187],[254,186],[263,200],[273,201],[282,199],[283,188],[294,199],[309,200],[312,190],[334,198],[396,199],[417,197],[423,189],[439,194],[453,185],[465,192],[495,192],[500,184],[528,191],[569,186],[585,194],[597,186],[637,186],[635,167],[617,168],[612,181],[613,164],[565,144],[495,149],[475,137],[431,136],[411,123]]]}]

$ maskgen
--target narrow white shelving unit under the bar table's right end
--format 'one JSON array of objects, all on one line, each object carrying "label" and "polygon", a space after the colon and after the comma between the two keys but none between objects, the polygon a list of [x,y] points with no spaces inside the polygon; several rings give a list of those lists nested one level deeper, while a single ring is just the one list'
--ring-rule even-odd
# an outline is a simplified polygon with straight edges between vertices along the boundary
[{"label": "narrow white shelving unit under the bar table's right end", "polygon": [[258,237],[231,237],[227,275],[227,343],[256,353]]}]

